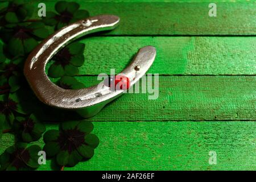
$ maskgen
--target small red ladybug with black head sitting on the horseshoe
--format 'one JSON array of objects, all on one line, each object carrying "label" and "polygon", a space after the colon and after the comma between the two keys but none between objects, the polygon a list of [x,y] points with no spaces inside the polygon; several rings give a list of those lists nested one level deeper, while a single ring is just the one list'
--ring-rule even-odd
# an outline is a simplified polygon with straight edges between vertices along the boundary
[{"label": "small red ladybug with black head sitting on the horseshoe", "polygon": [[104,80],[104,85],[112,90],[127,90],[130,88],[130,80],[124,75],[110,76]]}]

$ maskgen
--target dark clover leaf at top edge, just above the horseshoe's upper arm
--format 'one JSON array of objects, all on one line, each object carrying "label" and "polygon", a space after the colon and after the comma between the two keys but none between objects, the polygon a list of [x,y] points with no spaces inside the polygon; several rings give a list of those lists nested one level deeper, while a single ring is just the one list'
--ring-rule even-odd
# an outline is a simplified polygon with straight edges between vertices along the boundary
[{"label": "dark clover leaf at top edge, just above the horseshoe's upper arm", "polygon": [[55,4],[55,10],[59,14],[48,11],[43,22],[49,26],[55,26],[55,30],[58,30],[69,23],[87,18],[89,16],[88,11],[79,10],[79,7],[80,5],[76,2],[59,1]]}]

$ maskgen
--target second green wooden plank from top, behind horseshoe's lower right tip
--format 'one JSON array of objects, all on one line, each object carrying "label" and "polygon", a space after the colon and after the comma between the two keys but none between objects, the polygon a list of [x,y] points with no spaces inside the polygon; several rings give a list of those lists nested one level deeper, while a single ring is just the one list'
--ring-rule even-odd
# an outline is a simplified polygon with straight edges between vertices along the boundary
[{"label": "second green wooden plank from top, behind horseshoe's lower right tip", "polygon": [[[80,75],[119,73],[138,49],[155,46],[148,73],[160,75],[256,75],[256,37],[90,37]],[[49,67],[49,64],[48,64]]]}]

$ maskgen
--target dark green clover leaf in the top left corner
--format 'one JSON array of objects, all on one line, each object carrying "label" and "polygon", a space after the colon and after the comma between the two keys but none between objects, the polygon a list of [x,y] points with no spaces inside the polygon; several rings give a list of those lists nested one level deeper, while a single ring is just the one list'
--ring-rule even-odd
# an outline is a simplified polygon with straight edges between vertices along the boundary
[{"label": "dark green clover leaf in the top left corner", "polygon": [[7,23],[18,23],[30,18],[33,11],[33,6],[30,3],[11,0],[7,7],[1,9],[1,18]]}]

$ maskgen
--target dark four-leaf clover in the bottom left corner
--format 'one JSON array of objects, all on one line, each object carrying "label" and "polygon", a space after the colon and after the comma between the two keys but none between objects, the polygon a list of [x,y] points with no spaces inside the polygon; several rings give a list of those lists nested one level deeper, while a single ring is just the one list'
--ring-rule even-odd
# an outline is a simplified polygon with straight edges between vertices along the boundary
[{"label": "dark four-leaf clover in the bottom left corner", "polygon": [[38,145],[27,147],[26,143],[16,143],[0,155],[0,170],[16,171],[31,170],[39,167],[38,152],[41,148]]}]

